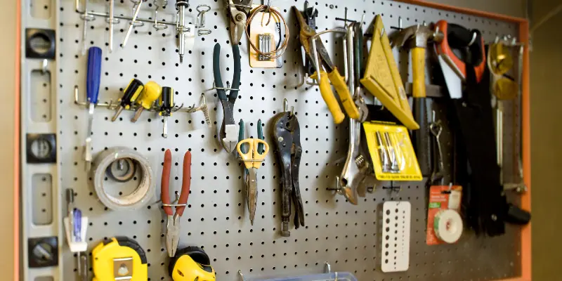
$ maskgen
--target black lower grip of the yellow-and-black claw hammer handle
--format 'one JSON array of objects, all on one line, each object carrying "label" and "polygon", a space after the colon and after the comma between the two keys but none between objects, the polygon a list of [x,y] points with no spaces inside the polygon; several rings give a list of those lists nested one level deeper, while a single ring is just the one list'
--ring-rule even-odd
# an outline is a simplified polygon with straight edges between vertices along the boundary
[{"label": "black lower grip of the yellow-and-black claw hammer handle", "polygon": [[[414,98],[414,119],[419,124],[419,129],[412,131],[414,138],[414,149],[416,150],[417,162],[422,176],[431,175],[431,138],[429,131],[429,112],[426,98]],[[435,159],[439,161],[439,159]]]}]

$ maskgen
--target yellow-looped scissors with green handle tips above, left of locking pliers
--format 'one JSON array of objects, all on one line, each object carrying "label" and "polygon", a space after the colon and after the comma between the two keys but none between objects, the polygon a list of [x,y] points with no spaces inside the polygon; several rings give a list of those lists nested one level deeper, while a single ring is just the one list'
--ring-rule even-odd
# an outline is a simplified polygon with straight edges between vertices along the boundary
[{"label": "yellow-looped scissors with green handle tips above, left of locking pliers", "polygon": [[[261,162],[266,158],[269,152],[269,145],[263,141],[263,129],[261,120],[258,120],[258,138],[244,138],[244,121],[240,119],[239,142],[236,146],[240,158],[244,162],[246,175],[246,202],[248,204],[248,212],[250,215],[250,223],[254,226],[254,217],[256,216],[256,207],[258,205],[258,169]],[[247,145],[244,145],[247,144]]]}]

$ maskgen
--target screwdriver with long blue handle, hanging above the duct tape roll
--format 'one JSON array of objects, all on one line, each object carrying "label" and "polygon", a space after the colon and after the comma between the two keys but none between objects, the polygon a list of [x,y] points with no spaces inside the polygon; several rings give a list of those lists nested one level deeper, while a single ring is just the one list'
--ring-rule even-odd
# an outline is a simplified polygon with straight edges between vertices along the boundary
[{"label": "screwdriver with long blue handle, hanging above the duct tape roll", "polygon": [[86,73],[86,98],[88,99],[88,134],[84,148],[86,171],[90,171],[92,164],[92,126],[93,110],[98,103],[101,76],[101,48],[91,47],[88,51],[88,70]]}]

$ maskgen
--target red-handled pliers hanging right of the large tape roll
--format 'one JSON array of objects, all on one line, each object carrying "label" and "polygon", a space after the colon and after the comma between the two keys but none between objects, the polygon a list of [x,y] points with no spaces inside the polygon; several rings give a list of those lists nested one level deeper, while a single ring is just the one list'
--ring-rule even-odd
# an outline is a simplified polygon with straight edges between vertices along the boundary
[{"label": "red-handled pliers hanging right of the large tape roll", "polygon": [[[166,223],[166,250],[168,251],[168,256],[173,257],[176,255],[176,249],[178,249],[178,242],[180,240],[180,218],[188,203],[191,185],[191,152],[187,151],[183,156],[183,181],[181,183],[180,197],[176,204],[170,203],[170,169],[171,152],[166,150],[164,152],[164,168],[162,169],[161,200],[164,212],[168,216]],[[176,214],[172,213],[171,207],[176,207]]]}]

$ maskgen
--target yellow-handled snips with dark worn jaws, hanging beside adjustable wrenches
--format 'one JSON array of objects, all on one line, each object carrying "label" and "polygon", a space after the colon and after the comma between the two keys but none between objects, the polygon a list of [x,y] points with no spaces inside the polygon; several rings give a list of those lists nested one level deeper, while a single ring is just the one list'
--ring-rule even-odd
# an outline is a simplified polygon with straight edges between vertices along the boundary
[{"label": "yellow-handled snips with dark worn jaws, hanging beside adjustable wrenches", "polygon": [[[301,27],[299,39],[306,55],[308,55],[308,58],[313,64],[315,64],[315,58],[318,58],[318,65],[314,65],[316,72],[311,76],[311,78],[318,79],[318,75],[320,75],[320,93],[322,94],[322,98],[328,106],[329,111],[332,112],[334,123],[340,124],[343,122],[345,115],[341,112],[338,101],[334,96],[334,92],[332,92],[332,87],[329,85],[330,82],[334,85],[339,99],[341,100],[341,104],[344,105],[344,109],[349,117],[359,119],[359,110],[353,102],[353,97],[349,92],[346,81],[344,77],[341,77],[337,67],[332,63],[332,60],[330,60],[328,51],[326,50],[324,44],[322,44],[322,40],[320,37],[315,37],[314,39],[311,38],[316,35],[315,30],[306,23],[305,18],[298,8],[295,6],[292,8]],[[311,40],[315,40],[316,52],[313,52],[312,50]],[[326,70],[322,68],[322,65]]]}]

